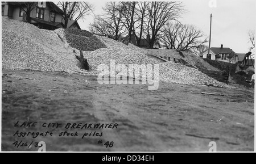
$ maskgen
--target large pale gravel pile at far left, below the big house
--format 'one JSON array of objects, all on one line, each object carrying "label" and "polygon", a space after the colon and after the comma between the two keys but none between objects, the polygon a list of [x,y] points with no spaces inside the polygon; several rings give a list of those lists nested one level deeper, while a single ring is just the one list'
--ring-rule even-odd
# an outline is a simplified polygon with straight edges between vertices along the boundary
[{"label": "large pale gravel pile at far left, below the big house", "polygon": [[31,69],[84,73],[69,45],[55,31],[2,18],[2,65],[6,69]]}]

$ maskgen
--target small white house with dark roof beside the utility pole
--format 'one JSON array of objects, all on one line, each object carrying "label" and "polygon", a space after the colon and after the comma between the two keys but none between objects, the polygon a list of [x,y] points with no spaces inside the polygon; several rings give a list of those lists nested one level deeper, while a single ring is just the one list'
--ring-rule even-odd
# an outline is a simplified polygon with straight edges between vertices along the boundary
[{"label": "small white house with dark roof beside the utility pole", "polygon": [[223,44],[221,47],[212,47],[210,48],[210,53],[208,54],[208,50],[204,51],[201,54],[201,57],[208,58],[210,60],[217,60],[223,62],[230,62],[236,64],[238,62],[238,54],[234,52],[230,48],[224,48]]}]

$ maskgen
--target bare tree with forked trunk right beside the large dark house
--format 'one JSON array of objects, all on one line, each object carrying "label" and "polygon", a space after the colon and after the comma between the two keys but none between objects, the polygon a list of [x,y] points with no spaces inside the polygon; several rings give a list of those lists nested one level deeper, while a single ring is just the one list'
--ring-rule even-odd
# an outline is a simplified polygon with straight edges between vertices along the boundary
[{"label": "bare tree with forked trunk right beside the large dark house", "polygon": [[88,2],[59,2],[57,5],[64,11],[64,28],[68,28],[68,20],[85,19],[94,9]]}]

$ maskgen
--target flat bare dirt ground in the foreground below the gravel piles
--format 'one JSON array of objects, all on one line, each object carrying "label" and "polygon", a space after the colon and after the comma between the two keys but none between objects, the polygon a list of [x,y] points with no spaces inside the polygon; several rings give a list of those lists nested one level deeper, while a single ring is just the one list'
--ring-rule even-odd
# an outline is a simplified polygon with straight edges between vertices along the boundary
[{"label": "flat bare dirt ground in the foreground below the gravel piles", "polygon": [[[37,151],[39,141],[53,152],[208,152],[211,141],[221,152],[254,151],[254,90],[160,83],[148,91],[147,85],[100,85],[97,77],[79,74],[2,74],[2,151]],[[30,124],[20,127],[23,122]],[[67,123],[118,125],[65,129]],[[18,137],[17,131],[52,136]],[[59,136],[65,131],[78,136]]]}]

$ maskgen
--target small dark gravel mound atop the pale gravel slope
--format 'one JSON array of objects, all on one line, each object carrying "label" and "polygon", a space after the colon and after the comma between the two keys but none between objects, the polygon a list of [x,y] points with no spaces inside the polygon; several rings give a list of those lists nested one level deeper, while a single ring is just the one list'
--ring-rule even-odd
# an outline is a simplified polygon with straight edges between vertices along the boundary
[{"label": "small dark gravel mound atop the pale gravel slope", "polygon": [[81,51],[95,51],[96,49],[106,48],[100,39],[86,30],[65,29],[65,39],[68,44]]}]

